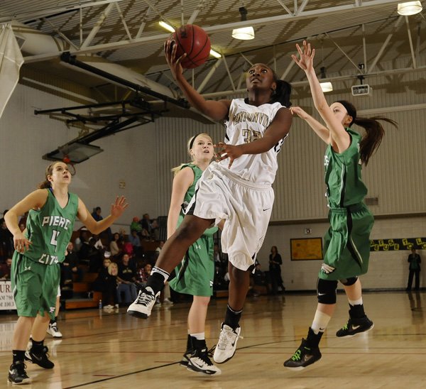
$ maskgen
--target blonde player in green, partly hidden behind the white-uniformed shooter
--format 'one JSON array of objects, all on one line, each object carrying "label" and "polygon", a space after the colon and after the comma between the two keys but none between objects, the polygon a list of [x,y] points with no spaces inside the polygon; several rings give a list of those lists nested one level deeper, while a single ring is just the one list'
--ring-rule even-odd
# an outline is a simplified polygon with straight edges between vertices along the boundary
[{"label": "blonde player in green, partly hidden behind the white-uniformed shooter", "polygon": [[[192,136],[187,150],[192,162],[172,169],[175,177],[167,221],[168,237],[182,224],[185,216],[182,204],[190,204],[197,182],[214,156],[212,138],[207,133]],[[175,268],[176,277],[170,280],[173,290],[193,297],[188,314],[187,349],[180,366],[209,376],[219,376],[221,373],[208,356],[205,340],[207,308],[213,293],[213,234],[216,231],[217,227],[206,229],[204,234],[192,243],[182,262]]]}]

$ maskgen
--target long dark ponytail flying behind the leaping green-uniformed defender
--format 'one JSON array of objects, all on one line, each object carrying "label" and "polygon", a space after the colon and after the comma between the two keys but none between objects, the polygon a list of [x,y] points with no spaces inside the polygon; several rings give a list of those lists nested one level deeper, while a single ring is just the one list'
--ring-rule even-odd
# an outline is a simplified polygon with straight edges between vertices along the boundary
[{"label": "long dark ponytail flying behind the leaping green-uniformed defender", "polygon": [[385,117],[376,116],[373,118],[356,118],[354,119],[354,124],[357,126],[361,126],[366,131],[366,134],[362,137],[361,143],[359,145],[359,152],[361,154],[361,162],[365,165],[368,164],[368,160],[370,159],[371,155],[377,150],[378,146],[380,146],[380,143],[383,139],[383,136],[385,135],[385,130],[383,129],[383,126],[381,123],[378,122],[378,120],[387,121],[388,123],[392,124],[396,128],[397,122],[393,121],[392,119],[388,119]]}]

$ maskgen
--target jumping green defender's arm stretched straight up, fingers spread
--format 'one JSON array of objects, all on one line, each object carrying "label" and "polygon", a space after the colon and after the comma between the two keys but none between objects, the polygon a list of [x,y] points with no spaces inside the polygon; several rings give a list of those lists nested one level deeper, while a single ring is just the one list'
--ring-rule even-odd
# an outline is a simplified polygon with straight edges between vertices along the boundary
[{"label": "jumping green defender's arm stretched straight up, fingers spread", "polygon": [[314,69],[314,57],[315,49],[311,50],[310,43],[307,43],[306,40],[303,41],[303,49],[296,44],[297,52],[300,55],[300,59],[296,55],[291,57],[297,63],[297,65],[305,71],[307,80],[309,81],[312,99],[314,100],[315,108],[318,113],[321,115],[327,124],[327,128],[330,131],[330,142],[334,150],[339,153],[346,150],[351,143],[351,138],[349,133],[346,132],[342,123],[336,118],[332,110],[330,109],[327,101],[322,92],[320,82],[318,81],[317,75],[315,74]]}]

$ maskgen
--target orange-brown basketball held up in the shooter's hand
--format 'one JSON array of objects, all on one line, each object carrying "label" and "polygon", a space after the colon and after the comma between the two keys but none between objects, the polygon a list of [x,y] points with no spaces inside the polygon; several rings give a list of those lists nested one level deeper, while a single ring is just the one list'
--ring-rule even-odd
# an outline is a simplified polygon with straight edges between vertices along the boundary
[{"label": "orange-brown basketball held up in the shooter's hand", "polygon": [[210,55],[209,35],[195,24],[185,24],[176,30],[171,38],[176,45],[176,57],[186,53],[186,57],[180,62],[185,69],[192,69],[202,65]]}]

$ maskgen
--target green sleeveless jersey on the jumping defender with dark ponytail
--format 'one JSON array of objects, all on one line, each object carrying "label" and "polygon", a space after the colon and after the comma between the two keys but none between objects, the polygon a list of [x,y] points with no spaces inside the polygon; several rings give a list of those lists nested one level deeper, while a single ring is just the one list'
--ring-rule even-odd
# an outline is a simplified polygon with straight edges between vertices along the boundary
[{"label": "green sleeveless jersey on the jumping defender with dark ponytail", "polygon": [[348,207],[363,202],[367,188],[361,180],[359,133],[346,128],[351,144],[343,153],[335,153],[329,145],[324,155],[325,184],[329,207]]}]

